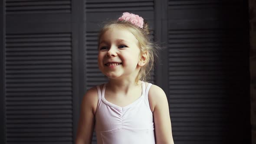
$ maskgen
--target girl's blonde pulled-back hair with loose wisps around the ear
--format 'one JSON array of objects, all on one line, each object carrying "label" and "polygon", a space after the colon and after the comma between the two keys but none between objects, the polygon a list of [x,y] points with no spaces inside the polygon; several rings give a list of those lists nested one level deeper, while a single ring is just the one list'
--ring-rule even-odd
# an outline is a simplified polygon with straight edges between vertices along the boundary
[{"label": "girl's blonde pulled-back hair with loose wisps around the ear", "polygon": [[150,33],[152,30],[149,29],[148,23],[144,21],[143,29],[141,29],[138,26],[135,26],[134,24],[125,20],[108,21],[104,24],[104,26],[102,27],[102,29],[98,34],[98,46],[99,46],[101,36],[106,31],[114,27],[126,29],[129,32],[131,32],[136,37],[136,39],[138,39],[141,53],[148,52],[148,56],[146,58],[147,62],[139,70],[138,75],[136,77],[136,83],[138,83],[139,80],[150,82],[153,74],[151,71],[154,69],[155,59],[158,58],[158,49],[160,49],[160,47],[156,43],[153,43],[153,40],[150,39]]}]

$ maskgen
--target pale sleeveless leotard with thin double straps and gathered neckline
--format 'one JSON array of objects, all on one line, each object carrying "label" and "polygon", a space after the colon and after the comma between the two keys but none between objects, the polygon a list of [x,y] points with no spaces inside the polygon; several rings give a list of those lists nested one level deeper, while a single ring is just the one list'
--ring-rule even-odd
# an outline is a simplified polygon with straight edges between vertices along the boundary
[{"label": "pale sleeveless leotard with thin double straps and gathered neckline", "polygon": [[142,95],[133,103],[119,107],[104,97],[99,85],[98,105],[95,113],[97,144],[155,144],[154,119],[149,106],[148,91],[142,82]]}]

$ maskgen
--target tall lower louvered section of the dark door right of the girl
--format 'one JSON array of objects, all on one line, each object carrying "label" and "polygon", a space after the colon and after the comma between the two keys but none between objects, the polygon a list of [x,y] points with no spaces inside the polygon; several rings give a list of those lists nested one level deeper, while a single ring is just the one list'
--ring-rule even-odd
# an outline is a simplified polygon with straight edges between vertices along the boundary
[{"label": "tall lower louvered section of the dark door right of the girl", "polygon": [[169,107],[179,144],[223,141],[228,133],[223,125],[232,123],[228,94],[233,85],[225,79],[235,73],[230,58],[236,55],[225,52],[237,51],[235,39],[227,29],[169,30]]}]

